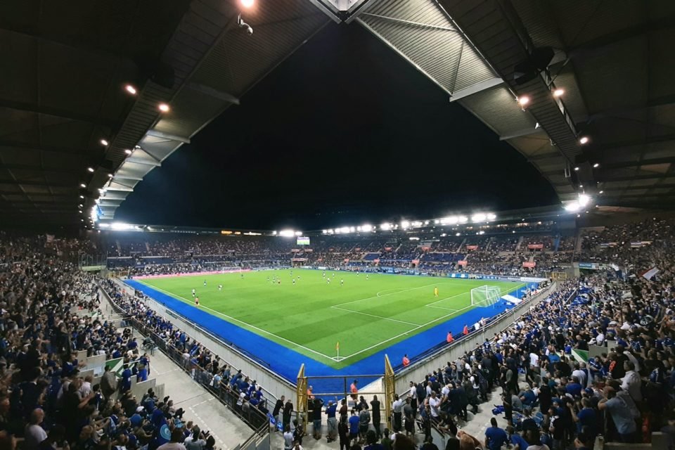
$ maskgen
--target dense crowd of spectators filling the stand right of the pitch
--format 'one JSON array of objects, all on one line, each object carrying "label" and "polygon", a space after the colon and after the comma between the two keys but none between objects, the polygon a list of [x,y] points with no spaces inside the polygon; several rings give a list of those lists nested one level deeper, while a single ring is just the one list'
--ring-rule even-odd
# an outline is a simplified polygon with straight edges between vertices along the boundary
[{"label": "dense crowd of spectators filling the stand right of the pitch", "polygon": [[[598,435],[637,443],[653,431],[672,446],[675,242],[663,229],[660,236],[625,272],[563,283],[510,329],[411,382],[394,403],[395,428],[409,434],[410,419],[428,437],[435,425],[457,449],[592,449]],[[657,273],[641,276],[650,267]],[[600,356],[585,361],[591,346]],[[484,436],[458,431],[492,387],[501,405]]]}]

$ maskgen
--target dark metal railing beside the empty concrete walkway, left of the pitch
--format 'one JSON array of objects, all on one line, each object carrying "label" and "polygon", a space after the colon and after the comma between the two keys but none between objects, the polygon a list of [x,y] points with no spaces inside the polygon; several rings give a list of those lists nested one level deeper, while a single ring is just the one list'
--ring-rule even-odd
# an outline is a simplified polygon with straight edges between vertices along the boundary
[{"label": "dark metal railing beside the empty concrete walkway, left of the pitch", "polygon": [[[194,364],[190,359],[184,359],[183,353],[184,350],[174,347],[169,342],[167,342],[160,335],[155,333],[150,328],[146,327],[143,323],[138,321],[134,316],[128,314],[127,311],[124,311],[120,305],[115,303],[115,301],[105,292],[101,285],[98,285],[98,289],[101,290],[103,295],[108,299],[113,308],[117,311],[117,314],[124,317],[124,322],[127,325],[131,325],[136,329],[141,335],[144,335],[151,340],[155,345],[155,348],[158,348],[169,357],[176,366],[179,366],[183,369],[184,372],[188,373],[196,382],[198,382],[205,390],[210,392],[214,397],[219,399],[221,404],[224,404],[230,411],[232,411],[240,420],[243,421],[252,429],[252,435],[245,440],[245,442],[239,444],[238,449],[256,449],[259,444],[261,444],[264,439],[269,438],[269,418],[267,416],[266,400],[262,401],[258,407],[248,404],[249,407],[243,405],[239,401],[239,392],[233,390],[229,383],[226,383],[223,380],[217,387],[214,387],[211,383],[204,383],[204,380],[210,380],[210,377],[203,377],[202,373],[205,373],[205,368]],[[269,446],[262,446],[266,448]]]}]

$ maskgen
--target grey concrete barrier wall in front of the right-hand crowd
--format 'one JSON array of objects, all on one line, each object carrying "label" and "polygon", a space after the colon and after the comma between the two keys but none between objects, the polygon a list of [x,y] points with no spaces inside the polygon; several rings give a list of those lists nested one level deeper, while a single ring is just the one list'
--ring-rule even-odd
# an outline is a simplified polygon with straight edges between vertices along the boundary
[{"label": "grey concrete barrier wall in front of the right-hand crowd", "polygon": [[448,361],[455,361],[463,356],[465,352],[470,352],[482,345],[486,339],[494,338],[494,333],[501,333],[506,328],[509,328],[513,325],[513,322],[519,319],[520,316],[529,309],[529,307],[546,299],[548,293],[553,292],[555,286],[556,283],[553,283],[553,285],[542,290],[541,293],[534,296],[531,300],[518,304],[517,307],[511,309],[508,314],[505,314],[500,319],[484,326],[477,332],[471,333],[468,335],[468,338],[462,338],[461,340],[454,342],[453,345],[448,346],[448,349],[445,352],[441,352],[435,356],[429,356],[426,361],[420,362],[419,364],[397,373],[394,382],[396,392],[399,394],[408,392],[410,390],[411,381],[418,383],[420,380],[424,380],[425,375],[428,375],[439,368],[445,368]]}]

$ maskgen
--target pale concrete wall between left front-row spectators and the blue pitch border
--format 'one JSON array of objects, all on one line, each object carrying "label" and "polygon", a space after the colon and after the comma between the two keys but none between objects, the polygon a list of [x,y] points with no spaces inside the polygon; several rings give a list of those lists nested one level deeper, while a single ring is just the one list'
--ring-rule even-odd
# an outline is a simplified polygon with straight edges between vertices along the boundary
[{"label": "pale concrete wall between left front-row spectators and the blue pitch border", "polygon": [[[123,283],[119,278],[113,278],[113,281],[127,294],[136,295],[135,290],[129,285]],[[144,301],[153,309],[156,314],[159,314],[164,319],[176,323],[176,326],[183,330],[190,338],[200,342],[205,349],[212,354],[217,355],[228,366],[235,370],[241,369],[242,373],[248,375],[252,380],[257,380],[258,384],[263,387],[265,397],[269,400],[274,400],[285,395],[287,398],[290,393],[295,392],[295,383],[282,378],[280,375],[271,370],[269,363],[258,358],[250,352],[228,342],[217,335],[214,335],[209,330],[206,330],[198,323],[191,321],[182,314],[176,313],[169,309],[165,304],[153,299],[153,297],[143,296]],[[232,362],[232,361],[236,362]]]}]

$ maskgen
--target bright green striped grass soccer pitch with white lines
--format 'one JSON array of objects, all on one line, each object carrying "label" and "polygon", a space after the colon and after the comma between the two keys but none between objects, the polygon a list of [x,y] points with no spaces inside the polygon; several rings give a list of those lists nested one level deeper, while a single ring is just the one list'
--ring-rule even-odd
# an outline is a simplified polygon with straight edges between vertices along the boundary
[{"label": "bright green striped grass soccer pitch with white lines", "polygon": [[[334,368],[465,313],[473,308],[472,288],[487,284],[507,293],[524,285],[385,274],[366,279],[365,274],[340,271],[326,271],[326,278],[317,270],[285,269],[141,282],[193,305],[195,289],[200,309]],[[439,336],[438,342],[443,339]]]}]

